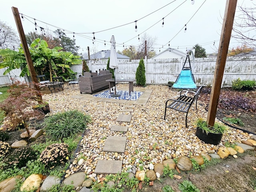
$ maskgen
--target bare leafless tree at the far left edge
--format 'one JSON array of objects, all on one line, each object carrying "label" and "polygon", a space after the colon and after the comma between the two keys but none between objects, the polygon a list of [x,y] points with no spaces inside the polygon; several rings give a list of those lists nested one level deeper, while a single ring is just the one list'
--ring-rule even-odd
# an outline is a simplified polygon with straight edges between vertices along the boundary
[{"label": "bare leafless tree at the far left edge", "polygon": [[5,22],[0,21],[0,49],[17,49],[20,45],[20,39],[14,29]]}]

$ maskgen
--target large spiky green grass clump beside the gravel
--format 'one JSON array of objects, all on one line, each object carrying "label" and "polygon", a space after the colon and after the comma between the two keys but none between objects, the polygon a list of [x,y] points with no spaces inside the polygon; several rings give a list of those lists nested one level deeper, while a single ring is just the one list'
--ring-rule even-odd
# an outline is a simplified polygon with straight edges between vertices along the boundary
[{"label": "large spiky green grass clump beside the gravel", "polygon": [[71,110],[49,116],[44,119],[42,125],[46,136],[52,140],[62,140],[83,133],[90,122],[90,116],[84,115],[78,110]]}]

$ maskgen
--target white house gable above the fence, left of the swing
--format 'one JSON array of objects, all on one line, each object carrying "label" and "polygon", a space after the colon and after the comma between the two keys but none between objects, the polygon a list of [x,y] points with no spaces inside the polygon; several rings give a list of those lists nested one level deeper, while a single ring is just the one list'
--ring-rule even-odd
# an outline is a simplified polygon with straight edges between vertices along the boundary
[{"label": "white house gable above the fence, left of the swing", "polygon": [[179,51],[177,49],[168,48],[151,59],[176,59],[176,58],[186,58],[187,54]]}]

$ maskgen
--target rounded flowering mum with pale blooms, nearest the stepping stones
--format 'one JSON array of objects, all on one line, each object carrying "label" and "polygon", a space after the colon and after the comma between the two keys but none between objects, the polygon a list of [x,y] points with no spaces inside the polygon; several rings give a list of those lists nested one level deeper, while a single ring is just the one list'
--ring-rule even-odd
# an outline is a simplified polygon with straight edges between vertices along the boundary
[{"label": "rounded flowering mum with pale blooms, nearest the stepping stones", "polygon": [[41,161],[47,168],[54,168],[64,164],[68,160],[68,145],[65,143],[56,143],[47,146],[41,153],[39,161]]}]

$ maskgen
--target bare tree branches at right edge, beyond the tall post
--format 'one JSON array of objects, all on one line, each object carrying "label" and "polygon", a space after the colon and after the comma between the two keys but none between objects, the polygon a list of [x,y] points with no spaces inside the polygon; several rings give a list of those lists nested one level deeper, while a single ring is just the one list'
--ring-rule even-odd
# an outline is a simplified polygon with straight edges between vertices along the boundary
[{"label": "bare tree branches at right edge, beyond the tall post", "polygon": [[248,46],[256,45],[256,5],[250,8],[238,6],[238,15],[233,24],[232,37]]}]

